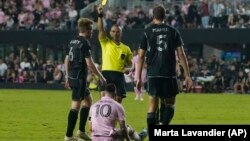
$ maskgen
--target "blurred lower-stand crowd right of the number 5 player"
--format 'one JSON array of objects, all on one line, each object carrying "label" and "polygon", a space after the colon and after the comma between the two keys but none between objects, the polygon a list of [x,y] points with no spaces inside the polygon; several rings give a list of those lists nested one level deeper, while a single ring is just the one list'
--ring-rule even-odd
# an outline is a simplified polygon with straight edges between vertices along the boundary
[{"label": "blurred lower-stand crowd right of the number 5 player", "polygon": [[[188,56],[190,74],[198,92],[206,93],[247,93],[250,87],[250,61],[241,62],[237,59],[224,61],[212,55],[210,58],[193,58]],[[181,70],[181,69],[180,69]],[[184,82],[182,73],[179,79]],[[183,90],[183,84],[179,84]],[[233,91],[232,91],[233,90]]]}]

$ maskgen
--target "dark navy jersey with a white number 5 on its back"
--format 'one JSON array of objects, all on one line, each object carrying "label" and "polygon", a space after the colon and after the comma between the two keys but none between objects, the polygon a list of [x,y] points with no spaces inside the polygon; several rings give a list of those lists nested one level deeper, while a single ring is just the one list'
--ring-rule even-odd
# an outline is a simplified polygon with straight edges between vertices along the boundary
[{"label": "dark navy jersey with a white number 5 on its back", "polygon": [[179,32],[165,24],[153,24],[146,29],[140,49],[146,51],[149,77],[175,77],[177,47],[183,41]]}]

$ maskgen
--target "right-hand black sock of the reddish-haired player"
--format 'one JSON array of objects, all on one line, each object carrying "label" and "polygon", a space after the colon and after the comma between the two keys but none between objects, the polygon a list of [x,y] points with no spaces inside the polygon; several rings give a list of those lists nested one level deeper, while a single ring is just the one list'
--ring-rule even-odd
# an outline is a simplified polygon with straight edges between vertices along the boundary
[{"label": "right-hand black sock of the reddish-haired player", "polygon": [[80,125],[79,130],[85,132],[86,122],[89,116],[89,107],[82,107],[80,111]]}]

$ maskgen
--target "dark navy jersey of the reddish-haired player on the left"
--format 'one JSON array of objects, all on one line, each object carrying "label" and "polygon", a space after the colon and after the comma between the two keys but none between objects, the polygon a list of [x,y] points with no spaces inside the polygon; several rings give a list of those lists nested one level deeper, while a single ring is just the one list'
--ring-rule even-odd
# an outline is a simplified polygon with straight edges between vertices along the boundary
[{"label": "dark navy jersey of the reddish-haired player on the left", "polygon": [[69,77],[78,79],[87,77],[85,58],[91,56],[91,47],[87,39],[78,36],[71,40],[66,53],[69,56]]}]

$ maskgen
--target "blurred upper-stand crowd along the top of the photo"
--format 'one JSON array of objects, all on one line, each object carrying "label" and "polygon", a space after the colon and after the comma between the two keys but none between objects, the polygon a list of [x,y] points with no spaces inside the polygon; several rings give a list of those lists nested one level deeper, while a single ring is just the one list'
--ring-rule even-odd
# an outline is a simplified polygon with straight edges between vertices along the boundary
[{"label": "blurred upper-stand crowd along the top of the photo", "polygon": [[[0,0],[1,30],[75,29],[80,10],[96,0]],[[152,0],[154,3],[154,1]],[[151,2],[151,3],[152,3]],[[150,3],[150,2],[149,2]],[[106,8],[105,26],[143,29],[152,19],[149,6]],[[248,28],[249,0],[167,0],[166,22],[176,28]],[[97,21],[96,6],[90,17]]]}]

